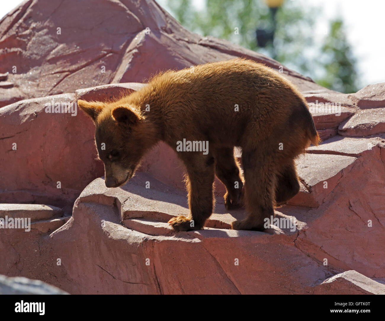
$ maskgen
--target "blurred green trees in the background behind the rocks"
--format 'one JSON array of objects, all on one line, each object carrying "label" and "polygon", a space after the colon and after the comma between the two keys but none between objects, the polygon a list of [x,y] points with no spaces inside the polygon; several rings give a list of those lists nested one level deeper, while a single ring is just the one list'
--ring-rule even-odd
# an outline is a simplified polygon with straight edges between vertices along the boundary
[{"label": "blurred green trees in the background behind the rocks", "polygon": [[356,60],[342,20],[331,21],[330,32],[315,42],[315,19],[322,17],[320,8],[305,8],[286,0],[276,13],[274,42],[259,48],[256,29],[273,28],[271,12],[262,0],[203,0],[198,5],[192,0],[158,2],[192,32],[261,52],[329,89],[357,91]]}]

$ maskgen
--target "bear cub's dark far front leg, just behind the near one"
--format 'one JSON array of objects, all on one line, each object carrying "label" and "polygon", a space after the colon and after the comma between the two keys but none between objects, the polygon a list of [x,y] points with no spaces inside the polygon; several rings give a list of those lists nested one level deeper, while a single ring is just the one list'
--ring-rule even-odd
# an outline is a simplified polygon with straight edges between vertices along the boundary
[{"label": "bear cub's dark far front leg, just behind the near one", "polygon": [[243,182],[239,176],[239,166],[234,159],[234,149],[222,147],[215,150],[215,174],[226,186],[224,206],[226,209],[241,207]]}]

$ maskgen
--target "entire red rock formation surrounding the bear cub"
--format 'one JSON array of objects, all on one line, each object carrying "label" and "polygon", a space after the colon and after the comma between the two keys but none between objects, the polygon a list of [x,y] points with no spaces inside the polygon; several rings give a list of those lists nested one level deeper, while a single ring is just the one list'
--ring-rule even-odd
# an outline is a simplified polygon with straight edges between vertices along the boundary
[{"label": "entire red rock formation surrounding the bear cub", "polygon": [[245,212],[225,209],[217,180],[206,227],[174,233],[166,222],[188,206],[171,148],[158,144],[126,186],[107,189],[92,122],[45,104],[112,99],[159,70],[234,56],[280,63],[193,34],[153,1],[30,0],[0,38],[0,202],[50,204],[0,204],[0,217],[32,221],[0,229],[0,273],[73,294],[384,293],[384,84],[341,94],[284,68],[324,140],[296,160],[301,190],[276,209],[295,226],[231,230]]}]

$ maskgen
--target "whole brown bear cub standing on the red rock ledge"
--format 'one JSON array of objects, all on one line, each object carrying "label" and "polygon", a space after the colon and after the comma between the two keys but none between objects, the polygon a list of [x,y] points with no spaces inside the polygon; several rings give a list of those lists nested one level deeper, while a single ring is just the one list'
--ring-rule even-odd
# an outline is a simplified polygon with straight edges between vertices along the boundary
[{"label": "whole brown bear cub standing on the red rock ledge", "polygon": [[[204,226],[213,212],[215,175],[226,186],[228,209],[246,203],[248,216],[233,229],[262,231],[274,206],[299,191],[295,157],[320,142],[295,86],[251,60],[169,70],[119,100],[78,105],[95,122],[107,187],[125,184],[159,140],[177,152],[186,165],[190,214],[169,221],[175,231]],[[244,181],[234,146],[242,149]]]}]

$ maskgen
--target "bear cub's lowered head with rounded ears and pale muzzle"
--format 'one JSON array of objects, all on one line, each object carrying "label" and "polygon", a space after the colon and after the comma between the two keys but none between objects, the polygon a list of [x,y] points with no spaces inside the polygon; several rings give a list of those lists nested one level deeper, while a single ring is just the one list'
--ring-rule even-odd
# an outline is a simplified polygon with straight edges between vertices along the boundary
[{"label": "bear cub's lowered head with rounded ears and pale muzzle", "polygon": [[95,123],[95,145],[104,162],[105,186],[126,184],[152,145],[145,117],[129,104],[85,100],[78,100],[77,104]]}]

